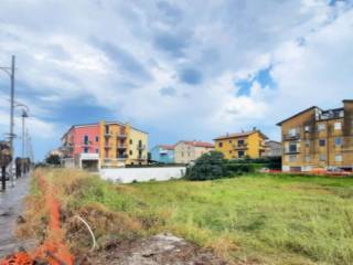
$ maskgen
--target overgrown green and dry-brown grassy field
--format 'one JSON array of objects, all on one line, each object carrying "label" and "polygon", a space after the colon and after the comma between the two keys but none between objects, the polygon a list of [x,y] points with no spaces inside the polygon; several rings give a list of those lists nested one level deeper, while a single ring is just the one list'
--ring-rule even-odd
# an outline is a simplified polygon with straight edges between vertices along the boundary
[{"label": "overgrown green and dry-brown grassy field", "polygon": [[[101,244],[170,231],[229,262],[353,264],[353,179],[257,174],[115,186],[78,171],[40,173],[57,187],[66,215],[85,216]],[[32,191],[40,197],[35,181]]]}]

